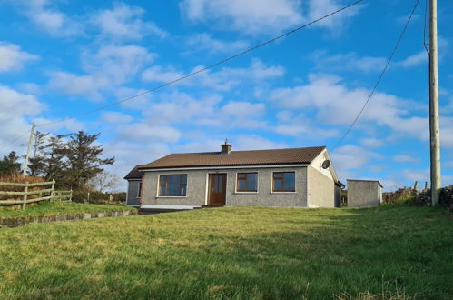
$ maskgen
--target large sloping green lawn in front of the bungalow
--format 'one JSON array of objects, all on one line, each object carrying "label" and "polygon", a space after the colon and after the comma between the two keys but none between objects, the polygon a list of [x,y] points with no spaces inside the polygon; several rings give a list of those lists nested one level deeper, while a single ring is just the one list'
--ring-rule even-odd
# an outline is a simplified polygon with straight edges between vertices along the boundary
[{"label": "large sloping green lawn in front of the bungalow", "polygon": [[443,209],[225,207],[0,230],[2,298],[453,297]]}]

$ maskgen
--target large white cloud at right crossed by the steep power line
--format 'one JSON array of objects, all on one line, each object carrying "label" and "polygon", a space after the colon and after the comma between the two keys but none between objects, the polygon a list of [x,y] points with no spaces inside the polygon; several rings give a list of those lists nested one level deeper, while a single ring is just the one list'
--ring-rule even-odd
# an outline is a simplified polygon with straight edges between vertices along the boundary
[{"label": "large white cloud at right crossed by the steep power line", "polygon": [[[313,112],[324,125],[350,125],[369,96],[364,88],[349,88],[338,76],[310,75],[307,85],[274,90],[270,98],[282,108]],[[426,140],[428,118],[409,116],[410,105],[395,95],[375,93],[359,119],[359,125],[387,126],[393,133]]]}]

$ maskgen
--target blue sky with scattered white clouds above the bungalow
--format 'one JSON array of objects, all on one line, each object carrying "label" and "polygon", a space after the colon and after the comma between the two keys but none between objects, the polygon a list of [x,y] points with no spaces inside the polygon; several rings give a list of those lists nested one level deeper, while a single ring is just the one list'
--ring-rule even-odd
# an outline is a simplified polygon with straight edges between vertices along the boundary
[{"label": "blue sky with scattered white clouds above the bungalow", "polygon": [[[340,0],[0,0],[0,154],[329,14]],[[121,178],[170,153],[326,145],[340,180],[429,180],[425,1],[365,0],[176,85],[38,127],[100,133]],[[443,185],[453,184],[453,2],[438,2]],[[17,136],[23,135],[12,145]],[[125,182],[123,182],[125,184]]]}]

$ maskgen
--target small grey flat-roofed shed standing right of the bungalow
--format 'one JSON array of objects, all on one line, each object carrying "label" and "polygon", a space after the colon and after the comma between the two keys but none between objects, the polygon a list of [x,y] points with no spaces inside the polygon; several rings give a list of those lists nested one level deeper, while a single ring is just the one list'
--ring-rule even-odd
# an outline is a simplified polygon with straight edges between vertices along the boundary
[{"label": "small grey flat-roofed shed standing right of the bungalow", "polygon": [[348,206],[379,206],[382,203],[382,185],[377,180],[348,179]]}]

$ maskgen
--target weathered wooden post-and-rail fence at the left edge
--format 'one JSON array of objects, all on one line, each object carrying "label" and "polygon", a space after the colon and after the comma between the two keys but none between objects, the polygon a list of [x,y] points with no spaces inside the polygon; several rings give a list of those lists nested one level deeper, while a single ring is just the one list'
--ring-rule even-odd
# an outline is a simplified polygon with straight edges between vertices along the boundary
[{"label": "weathered wooden post-and-rail fence at the left edge", "polygon": [[[20,191],[22,189],[22,191]],[[8,199],[3,199],[5,195]],[[0,182],[0,205],[26,205],[40,201],[71,201],[73,191],[55,191],[55,181],[43,183],[2,183]]]}]

